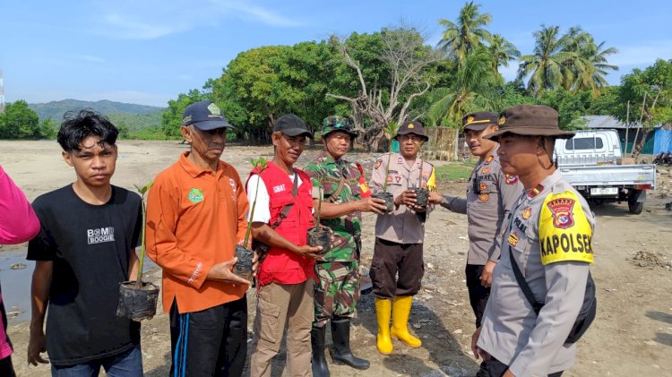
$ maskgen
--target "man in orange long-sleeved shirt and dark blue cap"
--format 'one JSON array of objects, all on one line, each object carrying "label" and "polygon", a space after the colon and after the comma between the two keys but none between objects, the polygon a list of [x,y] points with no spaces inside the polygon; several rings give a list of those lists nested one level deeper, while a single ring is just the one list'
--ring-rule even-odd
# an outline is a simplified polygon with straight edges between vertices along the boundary
[{"label": "man in orange long-sleeved shirt and dark blue cap", "polygon": [[220,160],[231,128],[210,100],[186,107],[180,132],[191,148],[159,173],[147,198],[147,254],[163,269],[171,375],[240,375],[246,362],[251,283],[231,267],[248,204],[236,169]]}]

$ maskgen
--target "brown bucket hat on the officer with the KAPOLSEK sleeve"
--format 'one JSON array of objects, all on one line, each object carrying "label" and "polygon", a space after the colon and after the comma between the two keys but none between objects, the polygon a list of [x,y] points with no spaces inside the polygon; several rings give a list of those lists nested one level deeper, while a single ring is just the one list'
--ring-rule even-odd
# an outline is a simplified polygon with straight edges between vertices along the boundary
[{"label": "brown bucket hat on the officer with the KAPOLSEK sleeve", "polygon": [[518,105],[506,108],[500,113],[499,131],[486,136],[497,141],[504,133],[530,136],[550,136],[571,139],[574,133],[563,131],[558,126],[557,111],[543,105]]}]

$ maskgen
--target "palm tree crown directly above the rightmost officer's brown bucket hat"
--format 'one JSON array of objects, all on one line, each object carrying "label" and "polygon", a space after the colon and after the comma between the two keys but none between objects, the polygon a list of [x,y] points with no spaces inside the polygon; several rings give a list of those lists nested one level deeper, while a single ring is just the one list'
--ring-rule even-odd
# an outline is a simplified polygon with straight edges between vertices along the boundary
[{"label": "palm tree crown directly above the rightmost officer's brown bucket hat", "polygon": [[528,91],[536,97],[542,90],[556,89],[573,81],[572,65],[576,53],[564,49],[564,40],[558,38],[560,27],[541,25],[532,35],[536,39],[534,54],[521,56],[518,77],[530,77]]}]

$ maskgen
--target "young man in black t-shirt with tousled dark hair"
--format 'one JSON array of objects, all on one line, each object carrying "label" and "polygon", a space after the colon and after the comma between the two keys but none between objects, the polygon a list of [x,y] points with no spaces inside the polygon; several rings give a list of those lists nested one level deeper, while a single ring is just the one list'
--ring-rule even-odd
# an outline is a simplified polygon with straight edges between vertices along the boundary
[{"label": "young man in black t-shirt with tousled dark hair", "polygon": [[137,274],[143,225],[140,196],[109,183],[117,134],[98,113],[67,114],[58,143],[77,179],[33,202],[41,230],[28,244],[37,261],[28,362],[51,362],[53,376],[95,376],[101,366],[108,376],[142,376],[140,323],[116,316],[119,282]]}]

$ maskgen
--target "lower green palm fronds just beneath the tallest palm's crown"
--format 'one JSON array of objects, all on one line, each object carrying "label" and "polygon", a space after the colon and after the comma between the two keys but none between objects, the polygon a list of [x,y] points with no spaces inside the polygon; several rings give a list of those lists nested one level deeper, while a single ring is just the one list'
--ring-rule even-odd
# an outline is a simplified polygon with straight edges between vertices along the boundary
[{"label": "lower green palm fronds just beneath the tallest palm's crown", "polygon": [[488,93],[493,87],[491,64],[490,52],[486,47],[478,47],[465,56],[452,86],[433,90],[432,96],[436,100],[426,113],[429,123],[459,126],[462,116],[471,110],[470,106],[475,99],[480,97],[489,101]]}]

